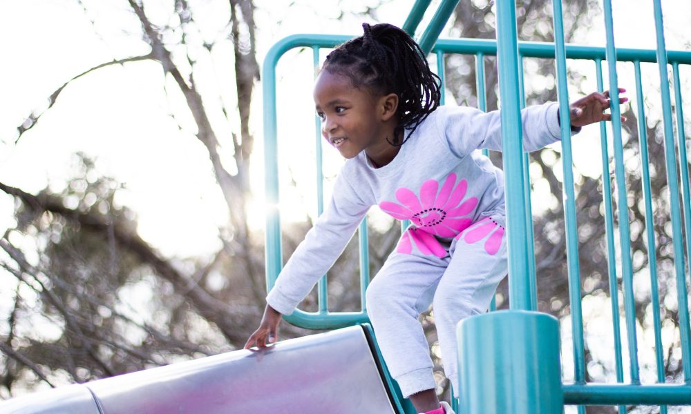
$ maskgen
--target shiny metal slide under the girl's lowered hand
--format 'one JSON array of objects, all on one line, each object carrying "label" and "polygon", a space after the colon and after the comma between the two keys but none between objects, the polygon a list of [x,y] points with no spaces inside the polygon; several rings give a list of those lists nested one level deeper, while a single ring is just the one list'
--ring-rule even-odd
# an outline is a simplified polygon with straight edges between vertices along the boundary
[{"label": "shiny metal slide under the girl's lowered hand", "polygon": [[0,414],[387,414],[368,326],[54,388]]}]

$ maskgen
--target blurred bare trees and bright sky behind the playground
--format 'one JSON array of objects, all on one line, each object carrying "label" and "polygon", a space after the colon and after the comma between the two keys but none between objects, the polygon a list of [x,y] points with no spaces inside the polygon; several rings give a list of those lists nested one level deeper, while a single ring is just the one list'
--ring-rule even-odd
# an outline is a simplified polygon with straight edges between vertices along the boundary
[{"label": "blurred bare trees and bright sky behind the playground", "polygon": [[[553,41],[551,1],[519,3],[519,38]],[[359,35],[363,21],[401,26],[412,4],[0,0],[6,16],[0,26],[0,398],[241,348],[258,326],[266,293],[263,58],[290,34]],[[691,5],[667,1],[663,11],[668,49],[690,50]],[[567,42],[605,45],[600,1],[567,1],[564,12]],[[651,16],[650,1],[614,1],[616,46],[654,48]],[[494,39],[493,2],[460,1],[442,37]],[[473,57],[448,57],[444,66],[446,103],[477,106]],[[486,66],[493,110],[495,61]],[[571,100],[596,90],[591,66],[569,61]],[[691,90],[691,73],[681,69],[682,88]],[[683,382],[659,76],[654,63],[643,63],[642,70],[656,224],[650,254],[659,272],[665,373],[668,382]],[[556,100],[553,61],[525,59],[524,71],[528,104]],[[619,85],[635,101],[633,66],[622,64],[618,72]],[[311,50],[288,52],[277,73],[279,208],[287,258],[316,218],[315,172],[305,162],[315,157]],[[684,103],[688,125],[691,102]],[[652,383],[637,110],[622,110],[641,378]],[[603,166],[594,156],[599,148],[598,126],[574,137],[587,375],[589,382],[614,382]],[[328,197],[343,160],[330,148],[324,157]],[[491,159],[501,165],[500,153]],[[568,381],[573,362],[560,146],[530,159],[539,308],[560,319]],[[611,179],[613,164],[607,169],[605,179]],[[400,230],[377,208],[370,228],[375,275]],[[357,260],[353,241],[329,273],[331,311],[359,310]],[[506,292],[504,283],[499,308],[508,306]],[[621,292],[615,294],[623,304]],[[302,308],[316,310],[316,295]],[[433,313],[422,315],[422,323],[437,364],[437,391],[448,398]],[[312,332],[288,324],[281,329],[281,339]],[[624,361],[626,349],[624,344]]]}]

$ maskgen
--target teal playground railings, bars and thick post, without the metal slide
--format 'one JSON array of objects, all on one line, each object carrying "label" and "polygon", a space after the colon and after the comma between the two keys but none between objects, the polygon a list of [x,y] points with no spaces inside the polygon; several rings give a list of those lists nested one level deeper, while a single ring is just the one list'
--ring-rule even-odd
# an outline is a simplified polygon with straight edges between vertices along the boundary
[{"label": "teal playground railings, bars and thick post, without the metal slide", "polygon": [[[430,1],[416,1],[404,29],[415,32],[422,18],[422,12]],[[691,404],[691,333],[688,315],[688,290],[686,287],[685,259],[683,251],[683,233],[687,246],[691,249],[691,203],[689,201],[688,161],[685,145],[683,103],[681,99],[681,81],[679,66],[691,64],[691,52],[676,52],[665,49],[662,11],[660,1],[654,1],[654,19],[656,26],[656,50],[616,49],[612,22],[611,1],[604,1],[605,27],[607,46],[594,48],[589,46],[565,45],[562,23],[561,2],[553,1],[555,43],[518,42],[515,16],[515,2],[499,0],[497,8],[498,41],[477,39],[439,39],[448,17],[457,1],[442,1],[428,28],[419,39],[424,52],[432,52],[437,57],[437,73],[444,82],[444,55],[449,53],[475,56],[477,76],[477,98],[479,107],[485,110],[484,97],[484,57],[498,57],[500,95],[502,108],[502,136],[504,137],[503,161],[506,177],[507,223],[509,237],[509,290],[511,311],[479,315],[466,319],[460,324],[459,360],[460,360],[460,413],[556,413],[561,412],[564,404],[578,405],[580,413],[585,412],[583,404],[619,405],[620,413],[625,412],[624,404],[661,405],[661,412],[667,410],[663,404]],[[264,66],[264,110],[265,110],[265,164],[267,166],[266,188],[267,202],[278,205],[278,170],[276,140],[276,79],[275,66],[278,58],[290,48],[312,48],[314,66],[319,65],[319,49],[332,48],[347,40],[347,37],[323,35],[296,35],[288,37],[272,48],[267,55]],[[522,128],[520,125],[520,108],[524,101],[523,70],[524,58],[556,59],[558,97],[560,118],[562,119],[562,164],[563,188],[565,199],[565,221],[567,237],[567,257],[569,264],[569,298],[571,306],[571,328],[574,349],[574,383],[562,384],[559,364],[558,322],[548,315],[536,313],[536,275],[533,253],[532,217],[529,204],[529,179],[527,173],[527,155],[522,152]],[[664,384],[665,375],[661,348],[661,320],[659,315],[659,297],[656,291],[657,279],[655,257],[650,257],[652,308],[654,314],[654,332],[656,336],[657,380],[659,384],[642,385],[638,366],[636,340],[636,321],[634,317],[634,288],[631,257],[631,239],[628,211],[625,203],[618,205],[618,244],[621,249],[621,270],[623,279],[623,297],[625,324],[627,327],[627,344],[629,351],[630,383],[623,384],[623,363],[621,334],[619,331],[619,306],[616,292],[617,270],[614,225],[612,220],[612,188],[609,183],[609,155],[605,126],[600,126],[601,152],[603,159],[603,193],[605,202],[605,221],[607,227],[607,246],[609,261],[609,279],[612,287],[612,309],[614,325],[614,344],[616,359],[616,379],[618,384],[587,384],[585,375],[585,346],[583,339],[583,317],[581,311],[580,270],[578,266],[578,228],[576,226],[576,206],[574,202],[574,175],[571,161],[571,132],[569,119],[569,97],[567,94],[566,59],[587,60],[594,63],[598,88],[603,90],[603,61],[607,62],[609,74],[609,94],[612,99],[612,125],[614,132],[614,164],[616,191],[618,199],[627,199],[625,169],[623,161],[623,142],[621,137],[620,108],[618,99],[617,62],[633,63],[636,71],[636,108],[638,127],[641,137],[641,175],[646,204],[646,226],[652,228],[652,206],[650,191],[650,172],[647,158],[649,143],[645,137],[645,110],[643,106],[643,88],[641,86],[641,63],[657,62],[660,73],[662,95],[661,107],[665,126],[665,169],[668,177],[670,209],[674,239],[674,259],[676,272],[676,290],[679,306],[679,333],[681,335],[681,353],[683,359],[684,384]],[[670,81],[668,66],[672,66],[672,77],[675,92],[676,137],[679,148],[679,165],[681,176],[677,172],[675,143],[672,126],[672,103],[670,99]],[[443,90],[444,88],[442,88]],[[316,128],[317,154],[317,193],[321,201],[321,136]],[[650,144],[654,145],[654,144]],[[685,231],[681,226],[681,203],[679,201],[679,184],[681,177],[681,195]],[[321,213],[321,204],[318,209]],[[406,226],[406,224],[404,224]],[[648,232],[647,243],[654,251],[652,232]],[[358,230],[361,257],[361,286],[364,290],[369,282],[368,274],[368,235],[367,223],[363,221]],[[526,242],[529,241],[529,242]],[[277,208],[267,214],[267,286],[271,288],[281,270],[281,226]],[[691,253],[690,253],[691,255]],[[362,295],[360,312],[331,313],[327,304],[327,278],[323,277],[317,288],[319,294],[319,311],[307,313],[296,311],[289,322],[305,328],[338,328],[366,321],[366,303]],[[482,321],[482,322],[480,322]],[[511,330],[506,329],[511,327]],[[518,329],[518,331],[516,331]],[[517,337],[520,338],[517,340]],[[511,346],[509,346],[511,344]],[[477,361],[491,362],[477,364]],[[547,366],[545,365],[547,364]],[[547,369],[545,369],[547,368]],[[518,370],[518,371],[516,371]],[[507,375],[511,373],[512,375]],[[412,411],[411,411],[412,412]]]}]

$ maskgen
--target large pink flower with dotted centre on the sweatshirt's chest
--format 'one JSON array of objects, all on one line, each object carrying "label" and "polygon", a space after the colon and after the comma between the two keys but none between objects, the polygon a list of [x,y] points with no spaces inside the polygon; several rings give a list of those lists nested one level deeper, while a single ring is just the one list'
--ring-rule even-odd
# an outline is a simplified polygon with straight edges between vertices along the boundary
[{"label": "large pink flower with dotted centre on the sweatshirt's chest", "polygon": [[452,172],[441,190],[437,180],[428,179],[420,188],[419,198],[412,190],[401,187],[396,191],[400,204],[382,201],[379,207],[396,219],[412,221],[416,228],[426,233],[454,237],[473,222],[466,216],[477,206],[477,197],[468,197],[464,201],[467,190],[468,181],[461,179],[456,184],[456,175]]}]

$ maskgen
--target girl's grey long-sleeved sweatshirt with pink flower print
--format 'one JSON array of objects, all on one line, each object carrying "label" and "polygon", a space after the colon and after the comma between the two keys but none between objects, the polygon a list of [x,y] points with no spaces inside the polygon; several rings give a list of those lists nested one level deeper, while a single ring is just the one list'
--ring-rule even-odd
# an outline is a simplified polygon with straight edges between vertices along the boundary
[{"label": "girl's grey long-sleeved sweatshirt with pink flower print", "polygon": [[[557,112],[557,103],[522,110],[525,151],[558,141]],[[442,106],[386,166],[372,166],[364,151],[345,161],[330,203],[281,270],[267,304],[290,315],[341,255],[371,206],[409,219],[417,228],[413,243],[440,257],[445,252],[439,241],[484,217],[503,217],[504,173],[477,151],[502,150],[500,121],[499,111]]]}]

